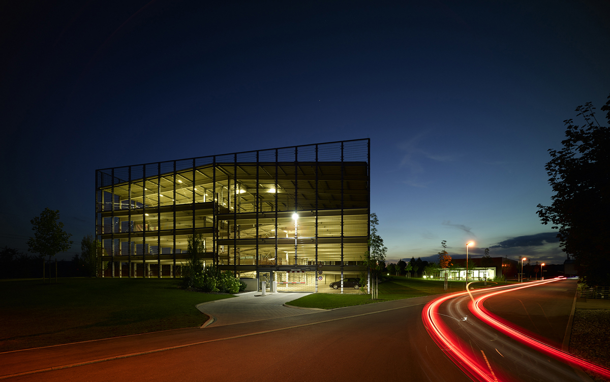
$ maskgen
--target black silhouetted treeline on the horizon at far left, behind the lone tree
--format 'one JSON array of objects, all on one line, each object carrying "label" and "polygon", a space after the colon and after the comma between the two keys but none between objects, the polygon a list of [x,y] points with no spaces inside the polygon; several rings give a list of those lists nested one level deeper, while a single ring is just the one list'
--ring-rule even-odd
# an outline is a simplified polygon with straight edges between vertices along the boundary
[{"label": "black silhouetted treeline on the horizon at far left, behind the lone tree", "polygon": [[[4,247],[0,249],[0,278],[42,278],[43,258]],[[50,265],[50,267],[49,267]],[[57,261],[58,277],[85,276],[77,261]],[[49,272],[51,272],[49,274]],[[45,261],[45,277],[55,277],[55,260]]]}]

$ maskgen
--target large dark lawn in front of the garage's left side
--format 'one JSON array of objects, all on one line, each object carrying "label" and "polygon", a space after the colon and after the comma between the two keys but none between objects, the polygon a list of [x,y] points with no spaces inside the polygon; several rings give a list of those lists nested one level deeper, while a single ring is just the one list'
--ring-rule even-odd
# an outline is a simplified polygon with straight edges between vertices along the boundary
[{"label": "large dark lawn in front of the garage's left side", "polygon": [[0,352],[197,327],[195,305],[232,295],[188,292],[176,279],[0,281]]}]

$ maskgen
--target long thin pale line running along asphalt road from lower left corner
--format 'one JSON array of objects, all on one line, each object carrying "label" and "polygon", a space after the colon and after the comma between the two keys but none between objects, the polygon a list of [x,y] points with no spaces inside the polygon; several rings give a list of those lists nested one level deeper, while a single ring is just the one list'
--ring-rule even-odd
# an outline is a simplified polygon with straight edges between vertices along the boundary
[{"label": "long thin pale line running along asphalt road from lower left corner", "polygon": [[195,346],[195,345],[209,344],[210,342],[227,341],[229,339],[243,338],[243,337],[249,337],[249,336],[257,336],[259,334],[273,333],[274,331],[290,330],[290,329],[302,328],[302,327],[307,327],[307,326],[312,326],[312,325],[326,324],[327,322],[346,320],[346,319],[351,319],[351,318],[355,318],[355,317],[362,317],[362,316],[370,316],[371,314],[384,313],[384,312],[389,312],[389,311],[398,310],[398,309],[404,309],[404,308],[410,308],[411,306],[424,305],[424,304],[425,304],[425,302],[417,303],[417,304],[411,304],[411,305],[405,305],[405,306],[398,306],[398,308],[390,308],[390,309],[383,309],[383,310],[379,310],[379,311],[375,311],[375,312],[354,314],[354,316],[339,317],[339,318],[336,318],[336,319],[329,319],[329,320],[323,320],[323,321],[317,321],[317,322],[310,322],[309,324],[300,324],[300,325],[293,325],[291,327],[285,327],[285,328],[277,328],[277,329],[270,329],[270,330],[264,330],[264,331],[255,331],[254,333],[240,334],[239,336],[231,336],[231,337],[225,337],[225,338],[209,339],[207,341],[192,342],[190,344],[176,345],[176,346],[158,348],[158,349],[153,349],[153,350],[146,350],[145,352],[138,352],[138,353],[131,353],[131,354],[112,356],[112,357],[107,357],[107,358],[93,359],[91,361],[84,361],[84,362],[67,364],[67,365],[62,365],[62,366],[46,367],[45,369],[30,370],[28,372],[15,373],[15,374],[10,374],[10,375],[1,375],[0,376],[0,380],[5,380],[7,378],[13,378],[13,377],[21,377],[22,375],[30,375],[30,374],[35,374],[35,373],[50,372],[50,371],[53,371],[53,370],[69,369],[70,367],[78,367],[78,366],[85,366],[85,365],[90,365],[90,364],[106,362],[106,361],[113,361],[115,359],[131,358],[131,357],[140,356],[140,355],[147,355],[147,354],[151,354],[151,353],[167,352],[168,350],[174,350],[174,349],[179,349],[179,348],[189,347],[189,346]]}]

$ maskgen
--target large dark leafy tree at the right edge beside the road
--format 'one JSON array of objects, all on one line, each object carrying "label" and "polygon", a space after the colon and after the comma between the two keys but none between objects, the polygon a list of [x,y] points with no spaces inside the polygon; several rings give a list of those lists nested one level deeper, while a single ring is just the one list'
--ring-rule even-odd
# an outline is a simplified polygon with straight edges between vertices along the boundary
[{"label": "large dark leafy tree at the right edge beside the road", "polygon": [[[610,128],[600,126],[594,109],[591,102],[576,107],[584,124],[565,120],[563,148],[548,150],[551,160],[545,169],[553,202],[539,204],[537,214],[542,224],[552,223],[551,229],[559,230],[559,246],[575,258],[584,283],[610,285]],[[601,110],[608,110],[610,123],[610,101]]]}]

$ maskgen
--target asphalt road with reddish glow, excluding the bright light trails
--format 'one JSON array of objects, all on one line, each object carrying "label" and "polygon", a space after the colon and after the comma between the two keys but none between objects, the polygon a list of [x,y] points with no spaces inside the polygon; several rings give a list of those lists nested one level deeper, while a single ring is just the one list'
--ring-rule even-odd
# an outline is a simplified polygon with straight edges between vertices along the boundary
[{"label": "asphalt road with reddish glow, excluding the bright light trails", "polygon": [[[562,341],[568,316],[562,309],[551,307],[553,298],[561,295],[562,299],[569,299],[571,294],[573,299],[575,292],[574,283],[562,283],[561,288],[549,286],[539,297],[531,291],[529,297],[525,296],[526,292],[514,292],[512,296],[522,300],[530,314],[533,324],[529,328],[537,328],[539,334],[548,335],[555,342]],[[435,298],[418,297],[244,324],[3,353],[0,374],[24,373],[7,378],[9,381],[347,381],[363,378],[470,381],[447,352],[432,340],[422,322],[423,307]],[[490,298],[487,303],[493,311],[515,314],[511,319],[526,324],[528,319],[518,314],[514,304],[515,298],[500,296]],[[540,325],[542,318],[531,309],[537,304],[544,308],[553,330],[547,331]],[[471,343],[477,351],[484,350],[503,380],[566,380],[556,378],[557,375],[570,375],[570,380],[578,380],[569,366],[548,361],[525,345],[503,338],[503,334],[477,322],[462,298],[451,300],[442,309],[440,313],[451,316],[443,317],[447,325],[460,333],[464,343]],[[553,309],[556,312],[549,314]],[[468,319],[461,321],[465,316]],[[493,355],[495,349],[502,355],[499,352]],[[515,359],[519,356],[526,361],[517,363]],[[51,367],[65,368],[37,371]],[[539,369],[543,371],[536,371]]]}]

